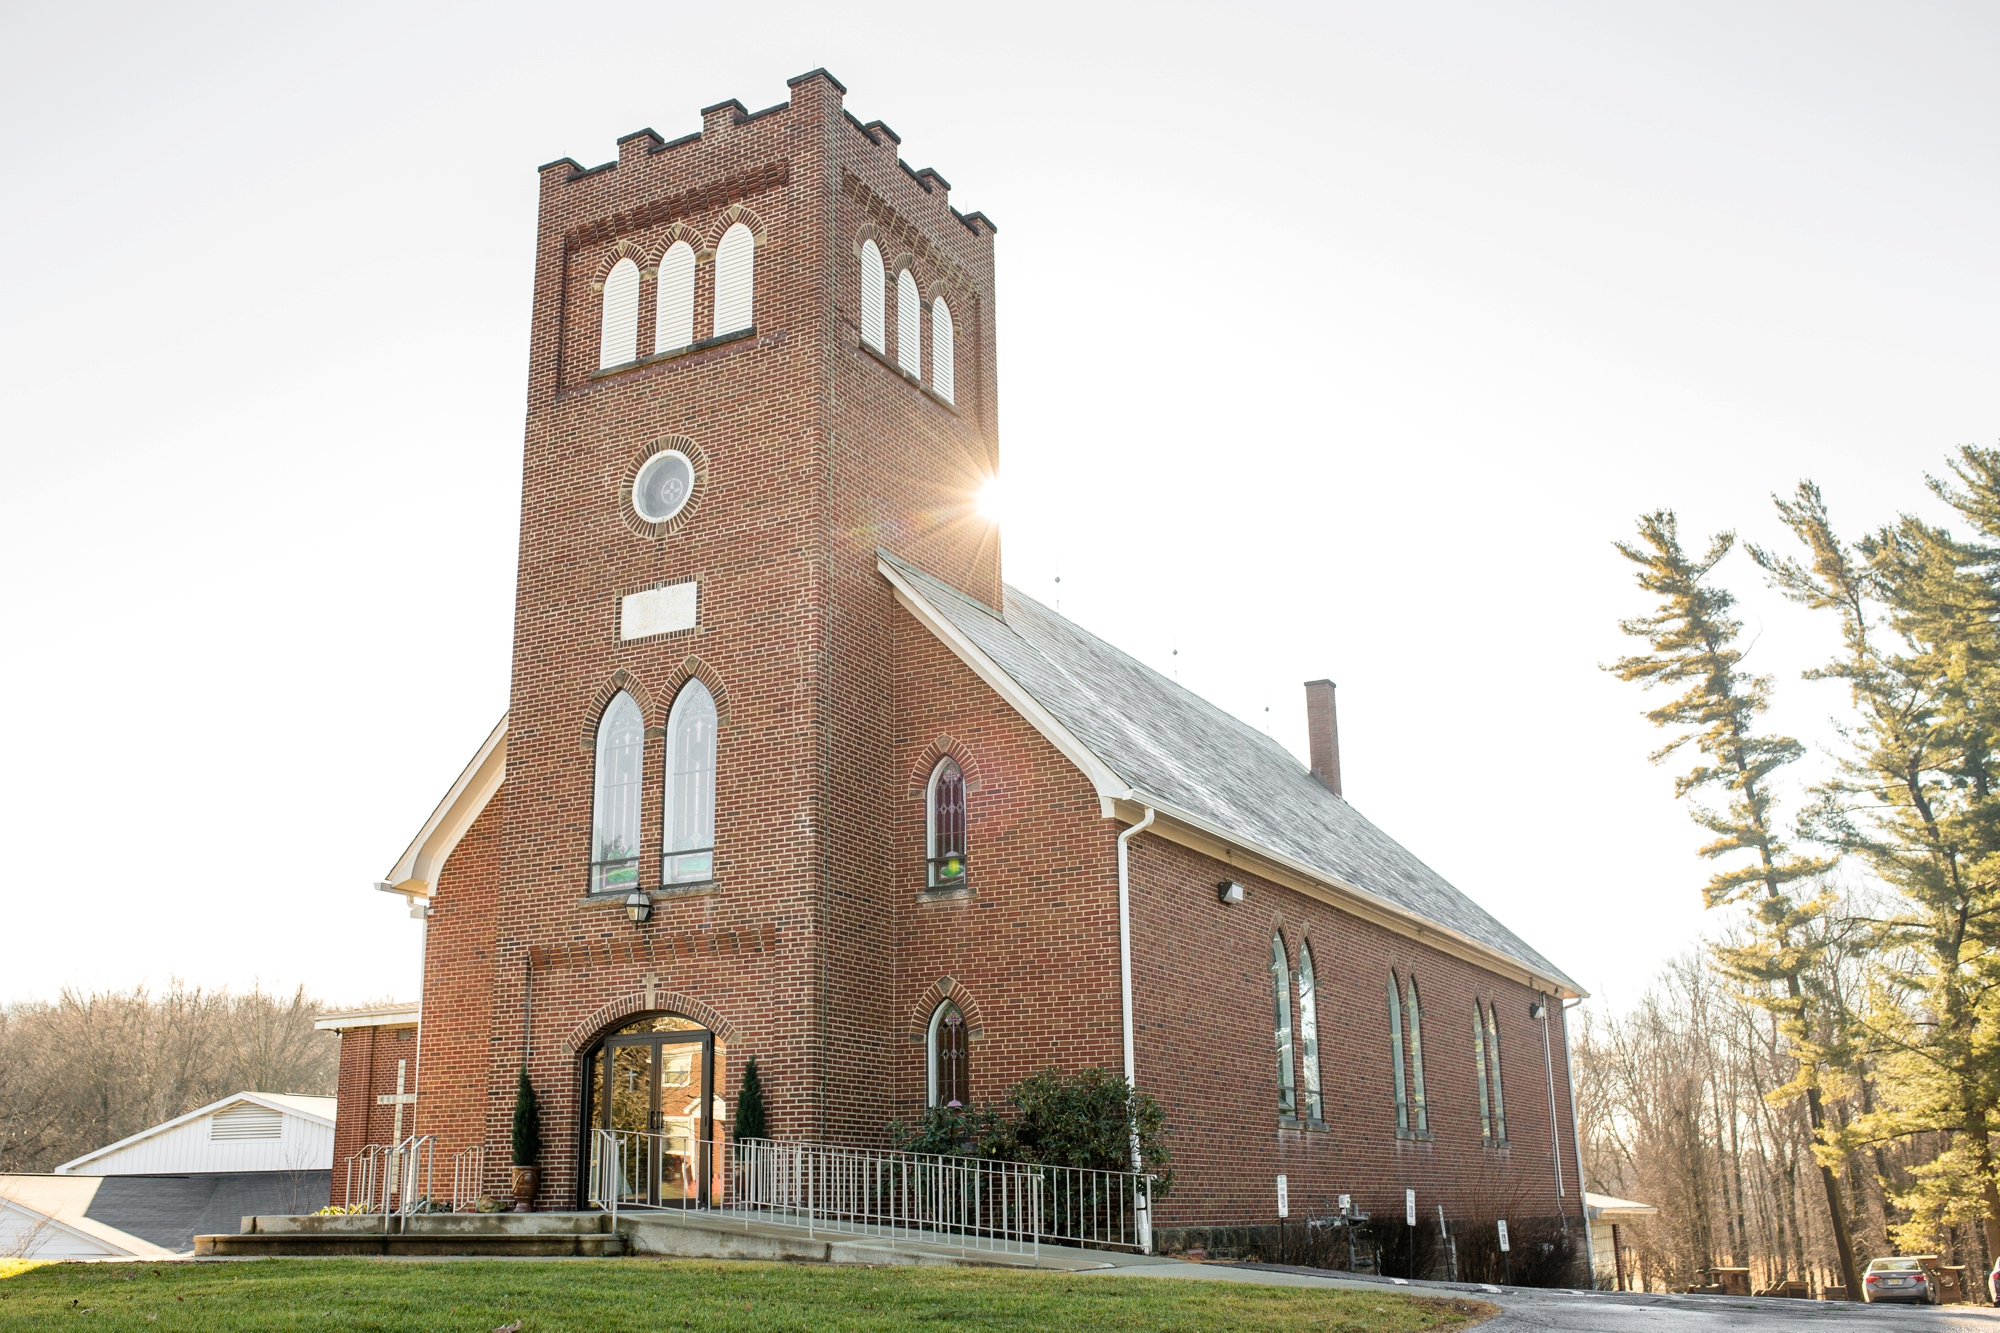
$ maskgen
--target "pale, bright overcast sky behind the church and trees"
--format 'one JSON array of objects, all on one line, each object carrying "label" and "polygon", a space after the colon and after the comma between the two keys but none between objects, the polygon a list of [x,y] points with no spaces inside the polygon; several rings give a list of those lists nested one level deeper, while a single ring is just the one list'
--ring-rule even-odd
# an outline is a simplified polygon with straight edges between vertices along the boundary
[{"label": "pale, bright overcast sky behind the church and trees", "polygon": [[[2000,440],[1978,4],[0,6],[0,1001],[414,999],[506,709],[534,168],[824,66],[998,234],[1006,576],[1632,1003],[1722,919],[1612,540]],[[1748,560],[1772,727],[1830,626]],[[1060,578],[1060,582],[1058,582]]]}]

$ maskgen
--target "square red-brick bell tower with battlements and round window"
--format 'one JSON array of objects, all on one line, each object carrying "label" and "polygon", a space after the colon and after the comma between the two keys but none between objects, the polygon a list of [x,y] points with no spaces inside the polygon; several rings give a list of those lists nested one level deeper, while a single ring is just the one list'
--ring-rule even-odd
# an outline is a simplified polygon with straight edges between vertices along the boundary
[{"label": "square red-brick bell tower with battlements and round window", "polygon": [[[976,512],[998,464],[994,226],[850,116],[828,72],[790,90],[540,168],[490,957],[440,943],[426,961],[426,1097],[482,1097],[484,1139],[506,1143],[526,1061],[540,1207],[580,1189],[584,1057],[630,1017],[712,1033],[714,1133],[754,1055],[772,1133],[872,1141],[882,1063],[906,1057],[876,550],[1000,604],[1000,536]],[[716,715],[706,875],[662,859],[668,719],[696,681]],[[642,833],[606,893],[592,811],[620,695],[644,719]],[[454,977],[490,987],[490,1031],[448,1061]]]}]

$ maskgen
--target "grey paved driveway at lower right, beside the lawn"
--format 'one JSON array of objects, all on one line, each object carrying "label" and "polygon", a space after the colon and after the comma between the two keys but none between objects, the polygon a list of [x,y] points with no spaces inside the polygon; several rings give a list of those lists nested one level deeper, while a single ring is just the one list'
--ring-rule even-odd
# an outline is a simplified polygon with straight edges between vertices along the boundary
[{"label": "grey paved driveway at lower right, beside the lawn", "polygon": [[[1220,1265],[1210,1265],[1220,1267]],[[1382,1283],[1274,1263],[1230,1265],[1238,1271],[1270,1273],[1340,1285],[1392,1285],[1396,1291],[1474,1295],[1502,1309],[1480,1333],[1786,1333],[1790,1329],[1884,1329],[1888,1333],[2000,1333],[2000,1311],[1990,1305],[1852,1305],[1848,1301],[1758,1301],[1754,1297],[1638,1295],[1612,1291],[1530,1291],[1434,1283]]]}]

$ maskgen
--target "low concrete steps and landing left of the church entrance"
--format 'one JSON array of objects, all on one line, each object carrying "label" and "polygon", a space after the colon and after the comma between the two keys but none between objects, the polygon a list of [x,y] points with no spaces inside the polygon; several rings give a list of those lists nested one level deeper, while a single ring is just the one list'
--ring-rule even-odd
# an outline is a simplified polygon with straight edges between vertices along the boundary
[{"label": "low concrete steps and landing left of the church entrance", "polygon": [[246,1217],[234,1235],[194,1237],[196,1257],[492,1255],[520,1259],[624,1253],[606,1213],[380,1213]]}]

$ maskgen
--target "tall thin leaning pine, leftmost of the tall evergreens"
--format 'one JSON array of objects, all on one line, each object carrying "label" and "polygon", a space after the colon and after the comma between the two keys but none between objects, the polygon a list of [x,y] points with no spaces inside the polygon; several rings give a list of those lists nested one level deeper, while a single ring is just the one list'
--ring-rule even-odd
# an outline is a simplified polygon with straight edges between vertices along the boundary
[{"label": "tall thin leaning pine, leftmost of the tall evergreens", "polygon": [[[1750,935],[1742,945],[1718,949],[1724,969],[1750,983],[1752,997],[1768,1007],[1798,1057],[1798,1079],[1784,1093],[1804,1093],[1814,1139],[1832,1147],[1820,1097],[1816,1023],[1804,977],[1818,963],[1824,933],[1812,927],[1824,915],[1830,895],[1800,899],[1792,889],[1828,869],[1828,861],[1794,853],[1780,837],[1772,811],[1772,775],[1802,755],[1798,741],[1756,733],[1758,717],[1770,707],[1770,679],[1742,671],[1736,638],[1742,622],[1730,616],[1736,598],[1710,580],[1716,564],[1734,548],[1736,534],[1722,532],[1708,552],[1694,560],[1680,546],[1680,524],[1672,510],[1644,514],[1640,542],[1616,542],[1618,552],[1638,566],[1638,586],[1660,598],[1648,616],[1620,620],[1618,628],[1644,638],[1650,652],[1624,656],[1608,671],[1644,689],[1670,687],[1680,693],[1646,713],[1674,739],[1652,753],[1662,763],[1686,745],[1700,759],[1674,781],[1680,799],[1714,793],[1720,805],[1692,805],[1694,823],[1714,839],[1700,849],[1708,859],[1730,859],[1710,875],[1702,901],[1710,909],[1748,903]],[[1738,859],[1748,853],[1746,859]],[[1836,1157],[1838,1159],[1838,1157]],[[1834,1169],[1820,1161],[1820,1185],[1832,1219],[1840,1277],[1852,1299],[1860,1297],[1854,1241],[1848,1233],[1846,1203]]]}]

